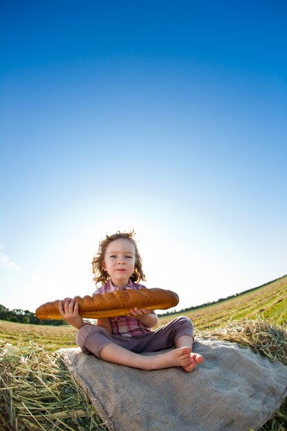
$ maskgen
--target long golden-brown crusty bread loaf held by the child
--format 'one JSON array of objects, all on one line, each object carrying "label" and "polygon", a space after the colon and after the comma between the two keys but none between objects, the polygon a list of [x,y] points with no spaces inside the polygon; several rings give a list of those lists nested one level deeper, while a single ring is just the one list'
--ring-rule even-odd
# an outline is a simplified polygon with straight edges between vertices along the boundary
[{"label": "long golden-brown crusty bread loaf held by the child", "polygon": [[[117,317],[129,314],[131,308],[146,308],[147,310],[167,310],[178,304],[179,298],[175,292],[160,288],[140,288],[118,290],[113,293],[99,293],[91,296],[75,297],[78,302],[78,312],[82,317],[98,319],[100,317]],[[38,319],[63,319],[59,313],[59,302],[46,302],[36,309]]]}]

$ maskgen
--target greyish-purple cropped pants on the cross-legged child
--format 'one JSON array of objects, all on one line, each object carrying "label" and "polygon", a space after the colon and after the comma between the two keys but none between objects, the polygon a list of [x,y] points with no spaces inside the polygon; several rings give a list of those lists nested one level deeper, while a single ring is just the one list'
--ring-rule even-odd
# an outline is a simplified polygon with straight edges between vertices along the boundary
[{"label": "greyish-purple cropped pants on the cross-legged child", "polygon": [[100,350],[109,343],[115,343],[134,353],[156,352],[175,346],[182,335],[193,337],[193,324],[188,317],[180,316],[156,330],[134,337],[121,337],[107,332],[96,325],[85,325],[78,330],[76,343],[83,353],[100,357]]}]

